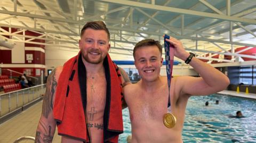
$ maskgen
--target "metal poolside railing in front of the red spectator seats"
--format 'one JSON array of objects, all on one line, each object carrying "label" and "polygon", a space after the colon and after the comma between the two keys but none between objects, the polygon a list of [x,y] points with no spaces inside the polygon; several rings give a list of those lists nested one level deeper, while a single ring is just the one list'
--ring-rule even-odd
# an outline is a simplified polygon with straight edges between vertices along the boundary
[{"label": "metal poolside railing in front of the red spectator seats", "polygon": [[0,95],[0,117],[42,97],[45,87],[43,84]]}]

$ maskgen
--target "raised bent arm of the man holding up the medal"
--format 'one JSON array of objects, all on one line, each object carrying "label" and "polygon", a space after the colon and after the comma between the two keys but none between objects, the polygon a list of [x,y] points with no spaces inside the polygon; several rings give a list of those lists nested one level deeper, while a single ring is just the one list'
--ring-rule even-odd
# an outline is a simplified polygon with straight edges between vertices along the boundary
[{"label": "raised bent arm of the man holding up the medal", "polygon": [[[170,37],[166,39],[172,45],[174,45],[174,55],[183,61],[186,61],[189,57],[189,53],[183,48],[181,41]],[[192,57],[189,62],[196,72],[199,73],[201,78],[195,77],[179,77],[179,85],[181,85],[181,94],[189,95],[209,95],[218,91],[224,90],[229,85],[228,77],[213,68],[213,66]]]}]

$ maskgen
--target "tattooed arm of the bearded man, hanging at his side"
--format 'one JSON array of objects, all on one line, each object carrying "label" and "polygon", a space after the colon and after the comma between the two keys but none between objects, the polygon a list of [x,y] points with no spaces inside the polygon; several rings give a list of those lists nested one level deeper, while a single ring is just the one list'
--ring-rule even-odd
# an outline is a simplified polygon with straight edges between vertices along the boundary
[{"label": "tattooed arm of the bearded man, hanging at his side", "polygon": [[[43,98],[42,114],[37,125],[35,142],[52,142],[56,123],[53,118],[53,103],[57,86],[56,69],[47,78],[46,91]],[[59,75],[59,74],[58,74]]]}]

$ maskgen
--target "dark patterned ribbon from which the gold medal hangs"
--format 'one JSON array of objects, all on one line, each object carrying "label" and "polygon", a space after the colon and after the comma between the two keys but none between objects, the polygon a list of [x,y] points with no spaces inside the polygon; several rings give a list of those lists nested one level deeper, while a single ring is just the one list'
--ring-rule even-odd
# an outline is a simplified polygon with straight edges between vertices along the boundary
[{"label": "dark patterned ribbon from which the gold medal hangs", "polygon": [[164,51],[165,51],[165,65],[166,65],[166,74],[168,81],[168,112],[171,112],[171,100],[170,100],[170,87],[171,87],[171,79],[172,79],[172,68],[173,68],[173,58],[174,58],[174,46],[166,41],[165,39],[170,39],[170,36],[164,35]]}]

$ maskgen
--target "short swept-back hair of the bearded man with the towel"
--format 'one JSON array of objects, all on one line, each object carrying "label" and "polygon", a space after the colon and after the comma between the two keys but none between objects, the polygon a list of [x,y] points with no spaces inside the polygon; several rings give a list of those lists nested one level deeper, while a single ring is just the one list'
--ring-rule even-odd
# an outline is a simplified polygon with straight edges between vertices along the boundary
[{"label": "short swept-back hair of the bearded man with the towel", "polygon": [[84,27],[81,30],[80,36],[84,34],[84,31],[88,28],[94,29],[94,30],[104,30],[108,34],[108,40],[110,40],[110,34],[108,31],[108,28],[106,27],[106,24],[103,21],[90,21],[87,22]]}]

